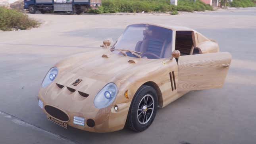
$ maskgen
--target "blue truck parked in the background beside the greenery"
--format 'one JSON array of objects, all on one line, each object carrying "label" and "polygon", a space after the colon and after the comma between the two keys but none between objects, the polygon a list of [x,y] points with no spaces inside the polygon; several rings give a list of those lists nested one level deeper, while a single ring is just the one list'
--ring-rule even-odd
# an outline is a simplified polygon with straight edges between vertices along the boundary
[{"label": "blue truck parked in the background beside the greenery", "polygon": [[24,0],[24,9],[30,13],[65,12],[81,14],[101,6],[101,0]]}]

